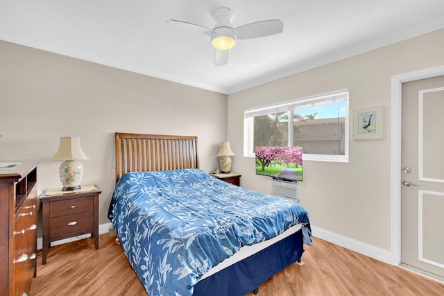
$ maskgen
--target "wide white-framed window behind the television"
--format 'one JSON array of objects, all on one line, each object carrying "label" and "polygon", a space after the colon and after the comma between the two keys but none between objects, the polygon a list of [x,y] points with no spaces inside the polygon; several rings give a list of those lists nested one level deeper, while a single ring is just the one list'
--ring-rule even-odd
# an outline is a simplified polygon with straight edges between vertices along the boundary
[{"label": "wide white-framed window behind the television", "polygon": [[348,162],[348,89],[244,112],[244,156],[257,146],[301,146],[303,159]]}]

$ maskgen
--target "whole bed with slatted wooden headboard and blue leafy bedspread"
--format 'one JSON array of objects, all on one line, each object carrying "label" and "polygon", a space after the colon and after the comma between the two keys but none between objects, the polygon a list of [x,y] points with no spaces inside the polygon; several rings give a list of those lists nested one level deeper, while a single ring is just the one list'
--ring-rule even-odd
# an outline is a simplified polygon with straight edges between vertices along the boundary
[{"label": "whole bed with slatted wooden headboard and blue leafy bedspread", "polygon": [[311,245],[296,202],[199,168],[197,137],[115,134],[108,218],[146,293],[245,295]]}]

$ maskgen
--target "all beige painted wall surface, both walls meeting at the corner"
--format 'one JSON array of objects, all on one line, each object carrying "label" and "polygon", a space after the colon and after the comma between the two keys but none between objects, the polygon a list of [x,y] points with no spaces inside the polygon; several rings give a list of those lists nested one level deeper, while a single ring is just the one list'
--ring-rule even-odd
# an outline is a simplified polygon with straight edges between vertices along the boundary
[{"label": "all beige painted wall surface, both walls meeting at the corner", "polygon": [[241,185],[271,192],[242,156],[244,109],[336,89],[355,107],[384,105],[384,139],[350,139],[350,162],[305,162],[301,204],[315,227],[390,250],[391,76],[444,64],[444,30],[386,46],[227,96],[92,62],[0,42],[0,159],[41,159],[39,190],[60,186],[58,137],[79,136],[83,184],[99,184],[100,223],[114,186],[114,132],[199,137],[200,166],[211,171],[219,142],[231,141]]}]

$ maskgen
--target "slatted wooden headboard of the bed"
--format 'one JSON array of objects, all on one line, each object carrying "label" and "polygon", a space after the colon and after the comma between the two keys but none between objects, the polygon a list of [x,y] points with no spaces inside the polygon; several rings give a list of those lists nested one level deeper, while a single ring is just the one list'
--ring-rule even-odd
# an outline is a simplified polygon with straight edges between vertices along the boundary
[{"label": "slatted wooden headboard of the bed", "polygon": [[197,137],[116,132],[116,182],[128,172],[199,168]]}]

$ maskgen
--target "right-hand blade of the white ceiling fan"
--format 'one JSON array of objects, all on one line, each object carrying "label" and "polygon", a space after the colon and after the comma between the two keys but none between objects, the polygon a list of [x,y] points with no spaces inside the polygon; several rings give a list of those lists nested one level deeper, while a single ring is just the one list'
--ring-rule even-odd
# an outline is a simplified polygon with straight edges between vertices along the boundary
[{"label": "right-hand blade of the white ceiling fan", "polygon": [[238,40],[264,37],[282,33],[283,31],[284,24],[280,19],[256,21],[255,23],[246,24],[234,29]]}]

